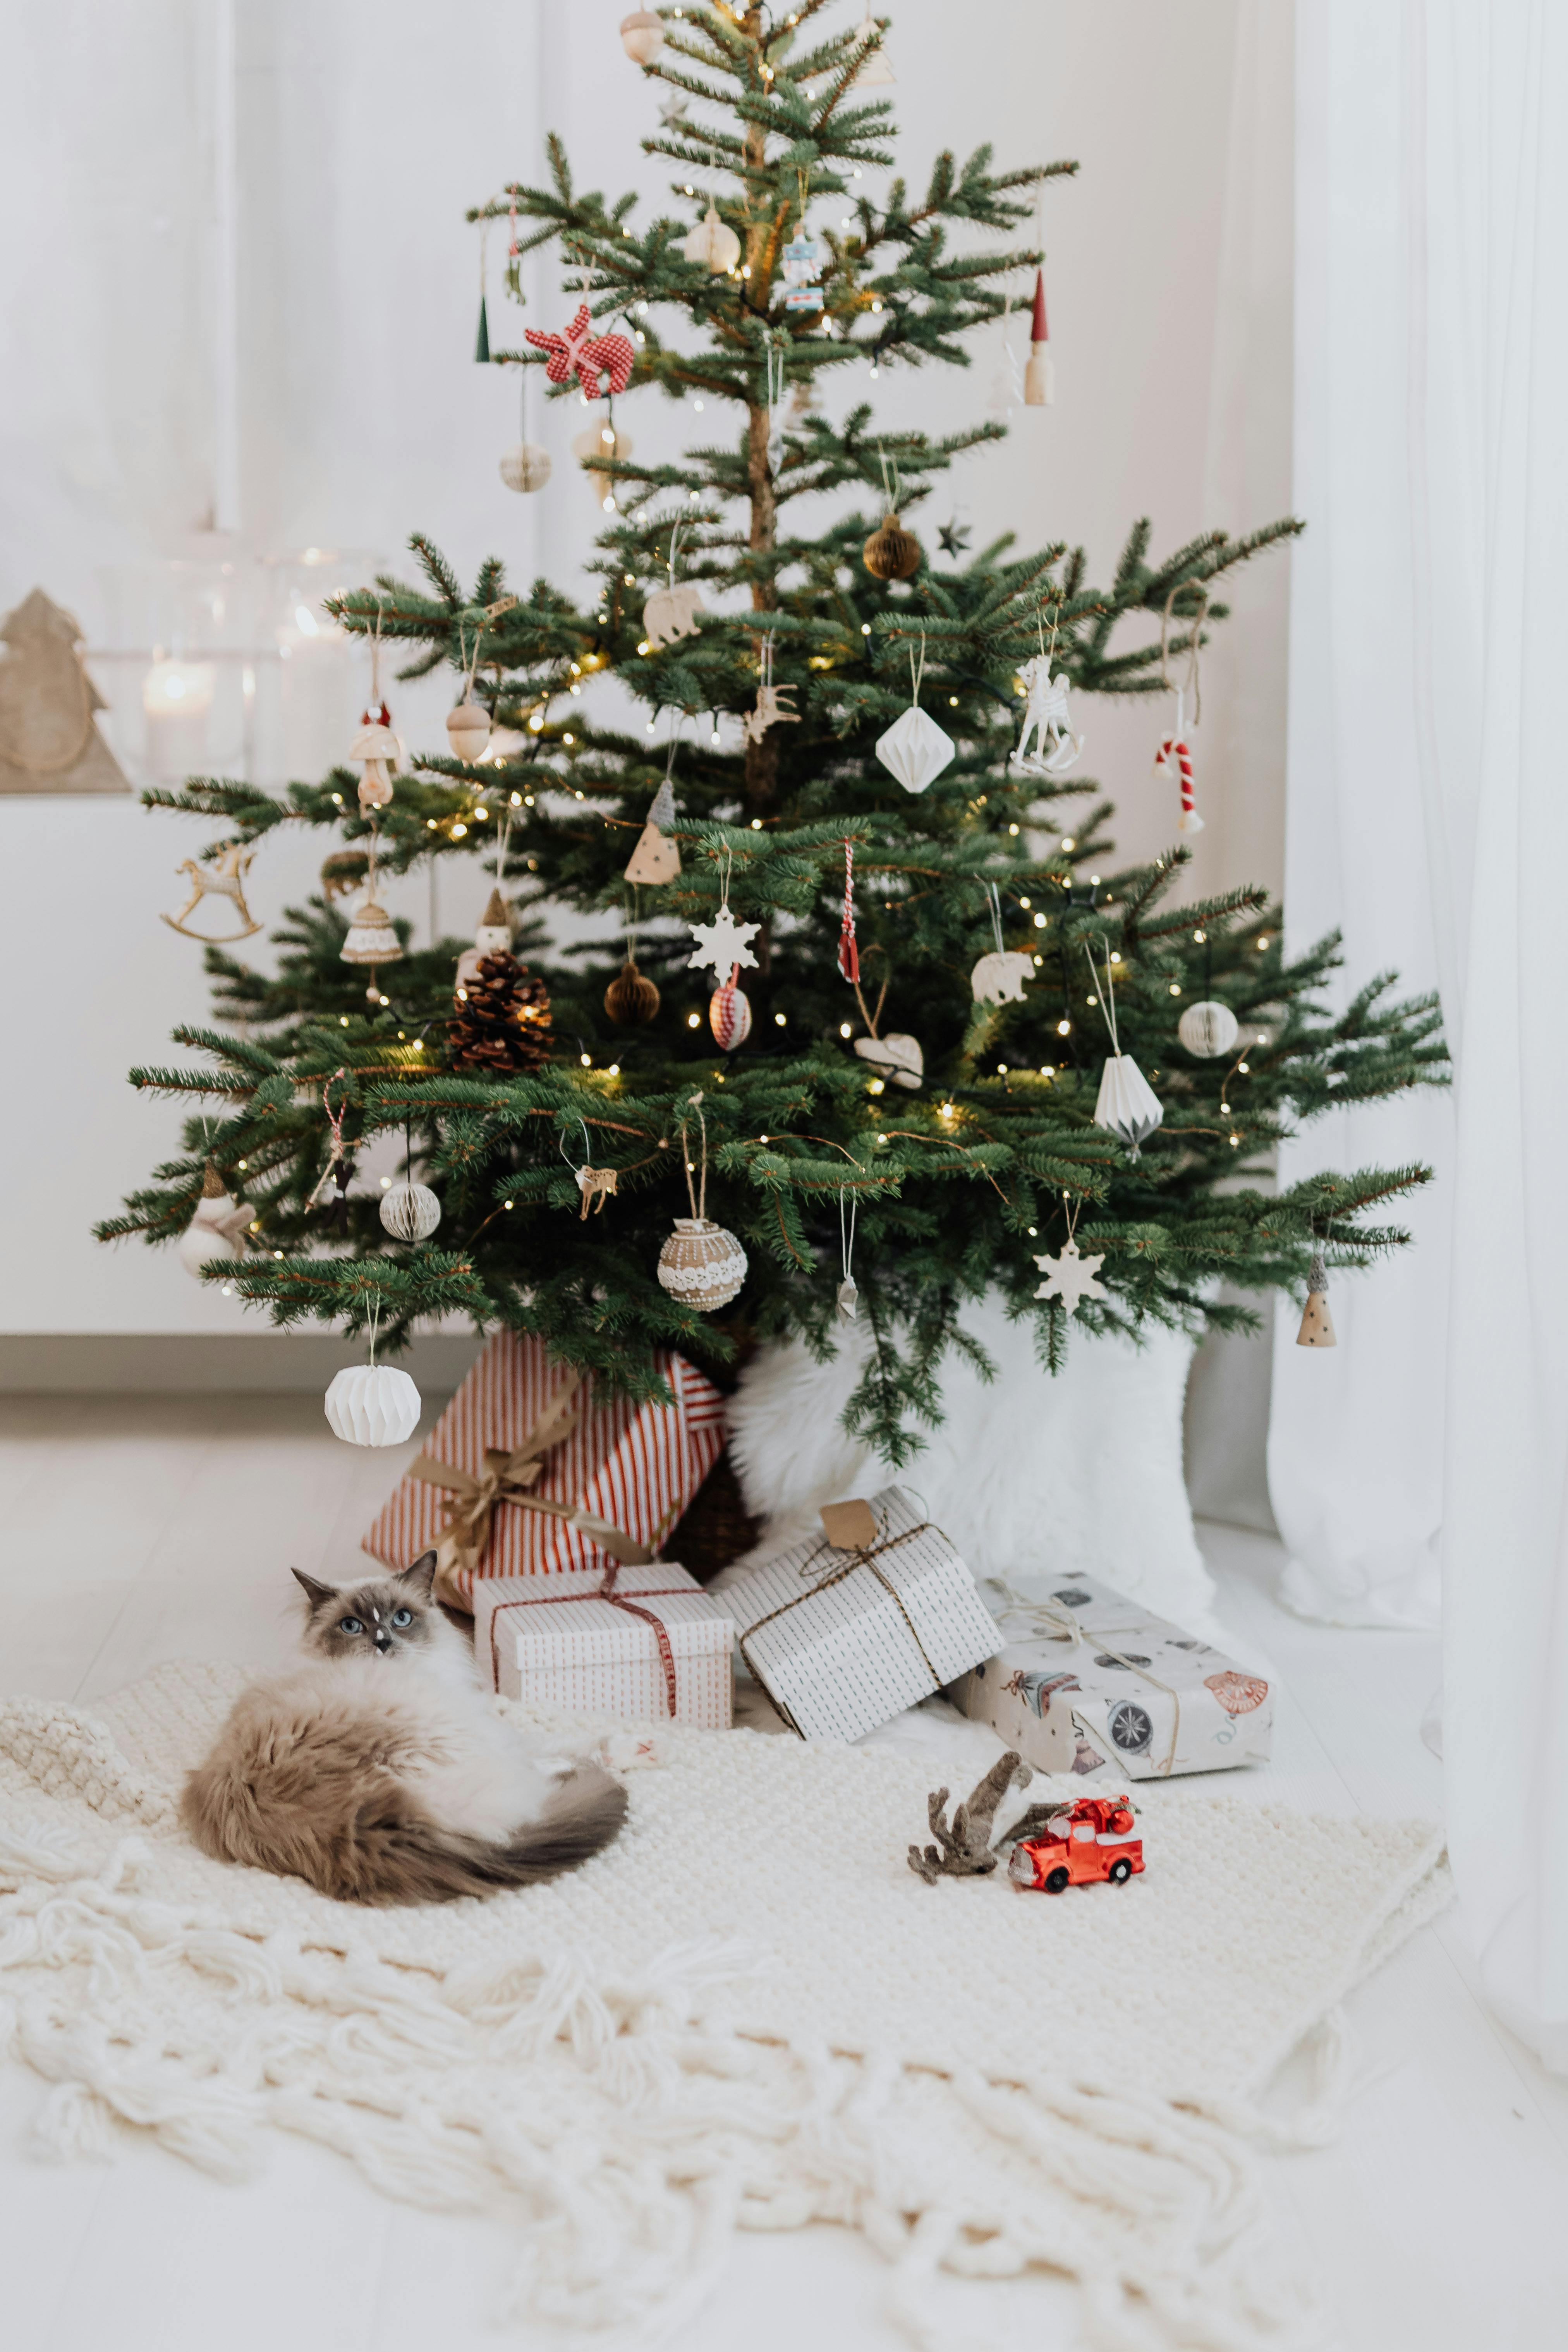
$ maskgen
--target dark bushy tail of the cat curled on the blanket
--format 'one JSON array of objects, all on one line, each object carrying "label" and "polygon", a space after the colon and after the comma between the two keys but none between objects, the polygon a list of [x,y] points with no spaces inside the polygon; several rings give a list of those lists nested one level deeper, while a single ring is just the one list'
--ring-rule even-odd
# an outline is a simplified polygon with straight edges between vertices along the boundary
[{"label": "dark bushy tail of the cat curled on the blanket", "polygon": [[611,1842],[625,1820],[625,1790],[597,1764],[578,1764],[550,1792],[545,1809],[491,1844],[444,1830],[397,1790],[367,1802],[336,1842],[322,1893],[348,1903],[451,1903],[534,1886],[576,1870]]}]

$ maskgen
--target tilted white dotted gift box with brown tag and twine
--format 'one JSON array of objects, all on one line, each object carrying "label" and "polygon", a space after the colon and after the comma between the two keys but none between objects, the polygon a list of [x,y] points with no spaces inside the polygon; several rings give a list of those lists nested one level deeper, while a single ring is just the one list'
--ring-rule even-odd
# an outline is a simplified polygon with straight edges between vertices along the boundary
[{"label": "tilted white dotted gift box with brown tag and twine", "polygon": [[999,1644],[973,1576],[903,1486],[823,1519],[842,1538],[837,1512],[867,1508],[853,1543],[818,1536],[715,1592],[748,1668],[809,1740],[875,1731]]}]

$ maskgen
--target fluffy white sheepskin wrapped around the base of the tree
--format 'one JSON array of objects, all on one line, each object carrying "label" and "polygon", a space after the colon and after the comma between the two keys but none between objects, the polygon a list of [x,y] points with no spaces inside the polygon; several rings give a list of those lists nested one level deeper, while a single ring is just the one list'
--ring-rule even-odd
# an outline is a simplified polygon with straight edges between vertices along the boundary
[{"label": "fluffy white sheepskin wrapped around the base of the tree", "polygon": [[[1027,1324],[999,1301],[964,1312],[992,1364],[980,1381],[950,1355],[943,1423],[905,1470],[842,1425],[860,1378],[865,1331],[818,1364],[799,1341],[766,1348],[729,1406],[741,1491],[766,1534],[748,1559],[811,1534],[823,1503],[870,1496],[898,1477],[922,1496],[976,1576],[1060,1583],[1098,1576],[1159,1616],[1208,1616],[1213,1583],[1182,1484],[1182,1395],[1192,1341],[1150,1329],[1143,1345],[1074,1331],[1056,1378],[1034,1359]],[[736,1562],[736,1569],[745,1562]]]}]

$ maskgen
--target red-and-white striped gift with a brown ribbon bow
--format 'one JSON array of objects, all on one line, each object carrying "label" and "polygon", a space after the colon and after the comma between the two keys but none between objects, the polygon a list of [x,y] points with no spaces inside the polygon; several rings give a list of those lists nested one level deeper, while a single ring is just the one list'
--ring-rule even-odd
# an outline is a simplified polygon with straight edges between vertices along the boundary
[{"label": "red-and-white striped gift with a brown ribbon bow", "polygon": [[404,1569],[435,1545],[437,1592],[458,1609],[487,1576],[651,1559],[724,1444],[712,1381],[682,1355],[656,1367],[672,1404],[637,1404],[543,1341],[496,1331],[364,1550]]}]

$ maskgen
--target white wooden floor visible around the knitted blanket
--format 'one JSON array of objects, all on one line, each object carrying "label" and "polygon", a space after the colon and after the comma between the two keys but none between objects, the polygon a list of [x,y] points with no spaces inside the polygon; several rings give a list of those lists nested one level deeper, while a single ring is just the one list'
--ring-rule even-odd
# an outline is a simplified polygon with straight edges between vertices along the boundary
[{"label": "white wooden floor visible around the knitted blanket", "polygon": [[[266,1668],[287,1653],[296,1564],[348,1576],[402,1454],[336,1444],[310,1397],[0,1399],[0,1689],[92,1700],[160,1658]],[[1441,1806],[1420,1743],[1436,1644],[1302,1625],[1274,1599],[1279,1548],[1201,1529],[1220,1618],[1281,1677],[1260,1797],[1352,1813]],[[1284,2258],[1347,2352],[1540,2352],[1568,2343],[1568,2082],[1474,1997],[1458,1917],[1352,2002],[1368,2082],[1342,2138],[1269,2166]],[[1018,2030],[1030,2030],[1018,1987]],[[494,2352],[501,2227],[378,2199],[280,2138],[268,2173],[219,2187],[127,2136],[113,2166],[28,2147],[42,2086],[0,2070],[5,2352]],[[679,2352],[893,2352],[882,2267],[858,2237],[743,2239]],[[1077,2343],[1058,2281],[943,2281],[952,2343]]]}]

